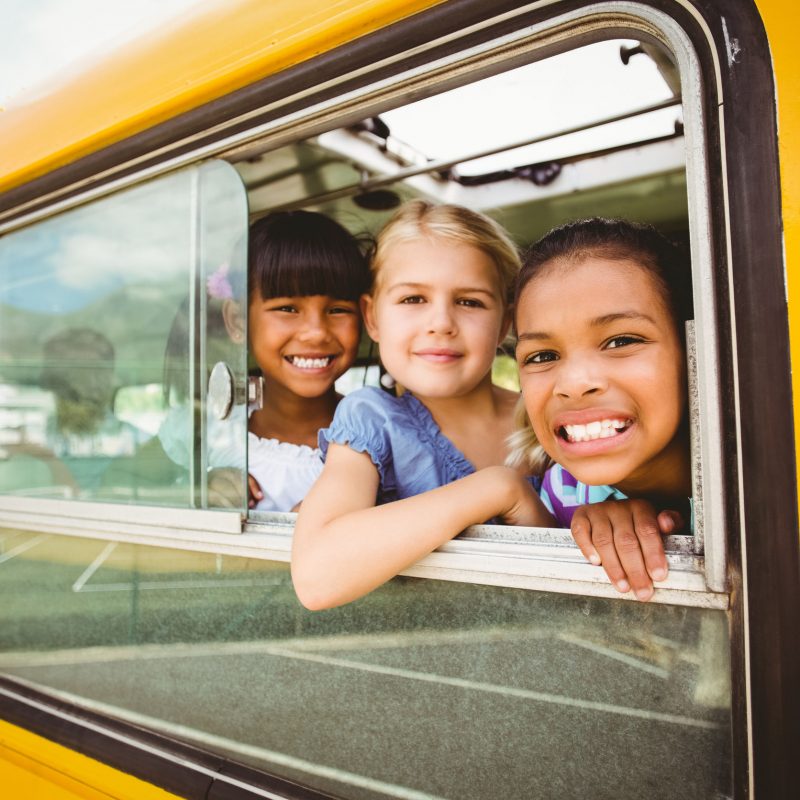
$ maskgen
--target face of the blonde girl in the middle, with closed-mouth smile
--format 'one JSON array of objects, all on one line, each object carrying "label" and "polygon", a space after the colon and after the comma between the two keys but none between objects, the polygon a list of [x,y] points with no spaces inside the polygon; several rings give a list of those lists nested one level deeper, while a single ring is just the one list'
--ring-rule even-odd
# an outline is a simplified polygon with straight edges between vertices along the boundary
[{"label": "face of the blonde girl in the middle, with closed-mouth smile", "polygon": [[420,399],[461,397],[490,381],[509,325],[494,261],[446,239],[393,246],[362,310],[389,374]]}]

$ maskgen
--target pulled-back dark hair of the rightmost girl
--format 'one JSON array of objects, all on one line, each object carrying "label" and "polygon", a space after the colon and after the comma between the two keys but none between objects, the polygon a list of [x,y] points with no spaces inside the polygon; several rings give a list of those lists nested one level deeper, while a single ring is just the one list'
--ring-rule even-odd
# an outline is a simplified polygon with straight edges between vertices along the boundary
[{"label": "pulled-back dark hair of the rightmost girl", "polygon": [[694,316],[689,259],[652,225],[638,222],[593,217],[553,228],[525,254],[514,294],[515,307],[524,288],[545,267],[591,256],[645,267],[656,279],[683,340],[683,323]]}]

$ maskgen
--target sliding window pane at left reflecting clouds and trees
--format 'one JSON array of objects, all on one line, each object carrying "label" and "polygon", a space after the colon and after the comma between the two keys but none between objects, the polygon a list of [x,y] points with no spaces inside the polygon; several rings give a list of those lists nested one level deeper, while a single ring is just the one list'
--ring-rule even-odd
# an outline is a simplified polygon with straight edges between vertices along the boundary
[{"label": "sliding window pane at left reflecting clouds and trees", "polygon": [[[213,505],[209,469],[238,467],[241,506],[245,355],[223,307],[246,292],[246,222],[212,162],[0,240],[0,491]],[[227,420],[206,403],[216,361]]]}]

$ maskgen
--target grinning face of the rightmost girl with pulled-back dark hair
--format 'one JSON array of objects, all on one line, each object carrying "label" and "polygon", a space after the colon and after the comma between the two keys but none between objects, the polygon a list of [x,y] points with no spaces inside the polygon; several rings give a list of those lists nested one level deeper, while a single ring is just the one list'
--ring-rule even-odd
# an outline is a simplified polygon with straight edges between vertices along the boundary
[{"label": "grinning face of the rightmost girl with pulled-back dark hair", "polygon": [[545,265],[517,308],[525,408],[578,480],[658,492],[685,445],[685,356],[652,274],[589,257]]}]

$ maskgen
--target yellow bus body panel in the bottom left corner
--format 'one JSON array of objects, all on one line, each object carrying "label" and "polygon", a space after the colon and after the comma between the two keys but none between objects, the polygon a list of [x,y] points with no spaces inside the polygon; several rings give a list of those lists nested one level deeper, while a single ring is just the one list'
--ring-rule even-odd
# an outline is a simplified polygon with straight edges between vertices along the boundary
[{"label": "yellow bus body panel in the bottom left corner", "polygon": [[0,787],[6,798],[170,800],[177,795],[0,721]]}]

